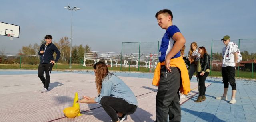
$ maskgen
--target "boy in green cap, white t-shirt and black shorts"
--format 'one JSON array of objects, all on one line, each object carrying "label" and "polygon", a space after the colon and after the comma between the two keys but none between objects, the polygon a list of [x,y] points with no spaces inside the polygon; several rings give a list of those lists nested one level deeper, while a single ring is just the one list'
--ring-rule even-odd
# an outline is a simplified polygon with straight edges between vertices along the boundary
[{"label": "boy in green cap, white t-shirt and black shorts", "polygon": [[[232,98],[229,101],[230,104],[236,103],[236,80],[235,80],[235,72],[236,72],[236,63],[238,60],[242,60],[242,56],[240,55],[238,46],[230,42],[230,36],[226,35],[221,39],[226,45],[222,49],[222,56],[223,56],[223,62],[222,62],[222,68],[221,68],[221,74],[223,78],[223,84],[224,84],[224,92],[223,95],[220,97],[216,97],[216,99],[219,100],[228,100],[227,92],[228,92],[228,83],[230,83],[232,87]],[[239,56],[238,56],[239,54]],[[240,59],[238,59],[240,57]]]}]

